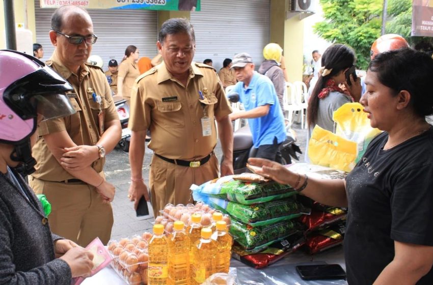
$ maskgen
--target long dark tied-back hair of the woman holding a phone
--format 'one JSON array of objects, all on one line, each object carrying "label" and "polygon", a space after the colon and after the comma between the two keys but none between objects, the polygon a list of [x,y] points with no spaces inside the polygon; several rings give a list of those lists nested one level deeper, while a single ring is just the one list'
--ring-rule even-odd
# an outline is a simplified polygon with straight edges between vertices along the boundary
[{"label": "long dark tied-back hair of the woman holding a phone", "polygon": [[351,67],[355,64],[356,56],[353,49],[343,44],[333,44],[328,47],[322,55],[321,65],[323,68],[331,70],[331,73],[326,76],[321,76],[319,71],[319,78],[311,93],[307,109],[307,122],[308,125],[313,126],[317,121],[317,113],[319,109],[319,95],[320,91],[325,87],[326,82],[332,76],[338,74],[341,70]]}]

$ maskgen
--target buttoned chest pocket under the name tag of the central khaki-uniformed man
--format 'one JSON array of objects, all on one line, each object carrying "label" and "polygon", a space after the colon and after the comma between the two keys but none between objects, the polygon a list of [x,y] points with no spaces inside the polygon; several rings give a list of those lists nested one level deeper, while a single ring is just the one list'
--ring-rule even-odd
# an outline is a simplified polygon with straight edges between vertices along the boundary
[{"label": "buttoned chest pocket under the name tag of the central khaki-uniformed man", "polygon": [[159,112],[157,118],[153,118],[166,128],[183,128],[185,126],[182,104],[180,102],[157,102],[156,109]]}]

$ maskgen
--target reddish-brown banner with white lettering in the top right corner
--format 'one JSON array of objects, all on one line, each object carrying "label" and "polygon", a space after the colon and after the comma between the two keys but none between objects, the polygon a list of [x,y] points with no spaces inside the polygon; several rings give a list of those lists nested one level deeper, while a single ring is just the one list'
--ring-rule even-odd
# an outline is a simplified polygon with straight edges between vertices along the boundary
[{"label": "reddish-brown banner with white lettering in the top right corner", "polygon": [[413,1],[411,36],[433,37],[433,0]]}]

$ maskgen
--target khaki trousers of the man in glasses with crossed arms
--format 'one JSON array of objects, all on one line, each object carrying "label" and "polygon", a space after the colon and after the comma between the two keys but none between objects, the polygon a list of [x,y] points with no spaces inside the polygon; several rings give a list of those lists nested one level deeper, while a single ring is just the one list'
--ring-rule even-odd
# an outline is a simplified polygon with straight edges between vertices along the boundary
[{"label": "khaki trousers of the man in glasses with crossed arms", "polygon": [[95,187],[88,184],[40,180],[29,176],[36,194],[45,194],[51,204],[48,216],[51,231],[87,246],[96,237],[107,244],[113,227],[113,209],[103,204]]}]

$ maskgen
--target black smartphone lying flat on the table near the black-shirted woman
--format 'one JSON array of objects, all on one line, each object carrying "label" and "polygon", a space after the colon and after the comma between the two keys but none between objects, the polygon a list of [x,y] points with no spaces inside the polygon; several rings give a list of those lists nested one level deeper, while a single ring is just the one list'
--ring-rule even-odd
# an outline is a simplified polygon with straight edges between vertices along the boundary
[{"label": "black smartphone lying flat on the table near the black-shirted woman", "polygon": [[304,280],[346,279],[346,272],[339,264],[298,265],[296,271]]}]

